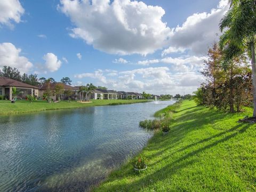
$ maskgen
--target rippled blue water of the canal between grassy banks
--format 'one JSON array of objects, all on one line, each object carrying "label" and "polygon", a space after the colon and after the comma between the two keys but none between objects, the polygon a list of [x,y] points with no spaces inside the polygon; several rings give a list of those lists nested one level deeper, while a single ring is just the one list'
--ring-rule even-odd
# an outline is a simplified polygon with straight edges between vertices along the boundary
[{"label": "rippled blue water of the canal between grassy banks", "polygon": [[0,191],[86,191],[146,145],[173,101],[0,117]]}]

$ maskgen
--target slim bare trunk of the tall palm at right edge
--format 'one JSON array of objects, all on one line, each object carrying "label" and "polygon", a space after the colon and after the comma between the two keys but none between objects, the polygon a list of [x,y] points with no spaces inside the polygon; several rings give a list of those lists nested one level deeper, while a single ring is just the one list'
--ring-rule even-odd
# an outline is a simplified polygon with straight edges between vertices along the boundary
[{"label": "slim bare trunk of the tall palm at right edge", "polygon": [[253,117],[256,117],[256,59],[255,59],[255,44],[251,43],[252,51],[252,86],[253,86]]}]

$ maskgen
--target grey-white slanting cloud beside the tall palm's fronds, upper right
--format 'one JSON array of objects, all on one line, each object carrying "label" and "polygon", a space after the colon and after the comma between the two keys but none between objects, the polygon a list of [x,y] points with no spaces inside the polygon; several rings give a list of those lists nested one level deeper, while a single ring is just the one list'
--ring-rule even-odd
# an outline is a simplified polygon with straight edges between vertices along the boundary
[{"label": "grey-white slanting cloud beside the tall palm's fronds, upper right", "polygon": [[217,9],[212,9],[210,13],[190,15],[182,26],[172,29],[170,47],[162,55],[186,49],[196,55],[205,54],[214,39],[218,40],[219,22],[228,8],[228,0],[221,0]]}]

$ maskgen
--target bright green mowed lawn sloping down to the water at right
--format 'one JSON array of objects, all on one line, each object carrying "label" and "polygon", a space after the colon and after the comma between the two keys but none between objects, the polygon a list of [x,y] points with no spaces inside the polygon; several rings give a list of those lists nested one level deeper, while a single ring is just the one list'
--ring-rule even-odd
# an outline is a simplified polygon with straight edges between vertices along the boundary
[{"label": "bright green mowed lawn sloping down to the water at right", "polygon": [[256,191],[256,125],[237,122],[251,114],[183,101],[171,133],[156,132],[141,151],[149,159],[146,171],[133,171],[131,159],[93,190]]}]

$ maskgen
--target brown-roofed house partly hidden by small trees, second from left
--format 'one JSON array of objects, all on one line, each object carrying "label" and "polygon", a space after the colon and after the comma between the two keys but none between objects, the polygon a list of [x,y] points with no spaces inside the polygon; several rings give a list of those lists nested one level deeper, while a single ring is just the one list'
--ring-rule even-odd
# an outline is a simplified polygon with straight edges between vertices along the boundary
[{"label": "brown-roofed house partly hidden by small trees, second from left", "polygon": [[54,94],[56,85],[62,85],[63,86],[63,92],[60,95],[60,99],[68,99],[67,95],[65,94],[65,90],[73,91],[73,94],[70,96],[71,99],[78,99],[79,87],[74,87],[74,86],[63,84],[63,83],[44,83],[43,85],[40,85],[39,86],[39,97],[42,98],[44,92],[47,89],[49,89],[50,91],[52,91],[52,95],[50,97],[52,99],[57,99],[56,95]]}]

